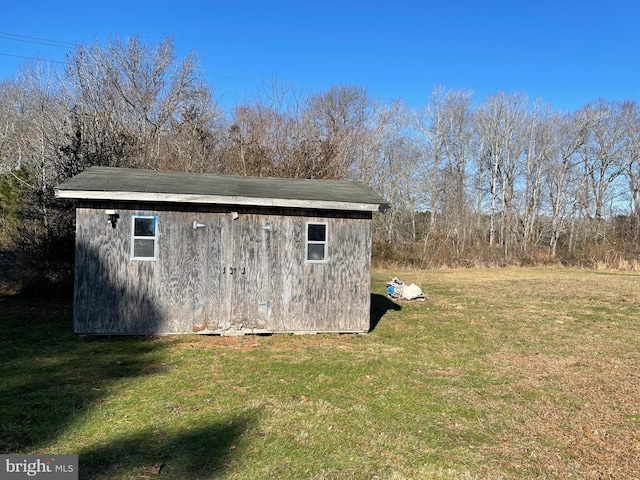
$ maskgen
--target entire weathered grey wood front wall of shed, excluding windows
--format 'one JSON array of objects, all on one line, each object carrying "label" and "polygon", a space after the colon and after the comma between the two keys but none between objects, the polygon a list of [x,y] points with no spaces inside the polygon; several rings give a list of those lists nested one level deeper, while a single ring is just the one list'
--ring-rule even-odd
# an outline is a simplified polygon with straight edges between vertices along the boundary
[{"label": "entire weathered grey wood front wall of shed, excluding windows", "polygon": [[[157,216],[157,260],[131,259],[133,215]],[[327,263],[305,263],[309,221]],[[370,212],[86,202],[76,222],[78,333],[369,330]]]}]

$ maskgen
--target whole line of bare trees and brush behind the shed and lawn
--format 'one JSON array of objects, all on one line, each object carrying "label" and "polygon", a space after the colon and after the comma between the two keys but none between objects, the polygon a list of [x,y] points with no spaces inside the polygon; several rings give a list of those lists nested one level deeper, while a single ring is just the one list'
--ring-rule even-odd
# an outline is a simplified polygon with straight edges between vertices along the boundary
[{"label": "whole line of bare trees and brush behind the shed and lawn", "polygon": [[564,263],[635,268],[640,110],[574,112],[523,93],[436,87],[422,108],[274,79],[226,111],[195,52],[166,37],[80,45],[61,68],[0,83],[0,251],[60,275],[73,206],[53,188],[93,165],[362,180],[392,204],[374,260],[418,267]]}]

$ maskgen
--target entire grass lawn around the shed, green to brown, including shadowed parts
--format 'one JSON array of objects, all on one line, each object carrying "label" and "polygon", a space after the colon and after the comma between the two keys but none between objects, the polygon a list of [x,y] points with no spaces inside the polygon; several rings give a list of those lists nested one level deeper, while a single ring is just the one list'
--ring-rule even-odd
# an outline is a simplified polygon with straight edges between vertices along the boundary
[{"label": "entire grass lawn around the shed, green to brown, including shadowed parts", "polygon": [[[393,276],[427,301],[387,300]],[[79,338],[71,305],[0,296],[0,453],[77,453],[81,479],[640,477],[640,275],[373,290],[368,335],[237,338]]]}]

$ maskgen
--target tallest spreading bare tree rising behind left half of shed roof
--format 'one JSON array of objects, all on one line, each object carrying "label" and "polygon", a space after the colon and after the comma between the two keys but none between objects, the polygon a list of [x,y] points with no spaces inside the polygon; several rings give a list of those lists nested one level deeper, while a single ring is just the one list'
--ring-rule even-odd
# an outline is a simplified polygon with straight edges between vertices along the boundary
[{"label": "tallest spreading bare tree rising behind left half of shed roof", "polygon": [[126,145],[124,158],[117,151],[98,155],[115,157],[109,163],[126,159],[131,166],[189,169],[190,158],[178,159],[177,165],[175,158],[166,158],[167,135],[195,112],[204,124],[219,115],[195,53],[178,61],[171,37],[157,45],[132,37],[124,43],[111,40],[105,48],[81,46],[68,61],[65,84],[80,131],[110,140],[97,141],[106,148]]}]

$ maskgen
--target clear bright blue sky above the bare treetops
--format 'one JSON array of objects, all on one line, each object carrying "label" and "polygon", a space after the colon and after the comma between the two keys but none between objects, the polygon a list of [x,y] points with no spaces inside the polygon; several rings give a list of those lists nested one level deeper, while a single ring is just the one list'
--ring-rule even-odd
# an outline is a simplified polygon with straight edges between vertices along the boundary
[{"label": "clear bright blue sky above the bare treetops", "polygon": [[[0,81],[74,44],[172,35],[225,107],[278,79],[355,85],[419,108],[435,85],[523,92],[559,110],[640,101],[639,0],[4,0]],[[53,63],[52,65],[59,65]]]}]

